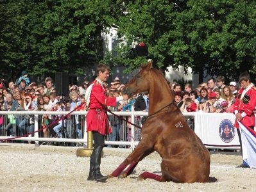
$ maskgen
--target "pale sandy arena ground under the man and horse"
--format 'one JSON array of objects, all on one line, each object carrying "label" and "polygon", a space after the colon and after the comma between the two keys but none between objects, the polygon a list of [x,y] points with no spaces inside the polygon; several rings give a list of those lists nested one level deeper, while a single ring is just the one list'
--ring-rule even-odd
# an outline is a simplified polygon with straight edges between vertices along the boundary
[{"label": "pale sandy arena ground under the man and horse", "polygon": [[[160,156],[141,161],[126,179],[87,181],[89,157],[76,157],[75,147],[0,143],[0,191],[256,191],[256,169],[235,168],[241,156],[211,155],[209,183],[176,184],[137,180],[144,171],[160,174]],[[130,150],[104,148],[101,173],[108,175]],[[185,164],[184,164],[185,166]]]}]

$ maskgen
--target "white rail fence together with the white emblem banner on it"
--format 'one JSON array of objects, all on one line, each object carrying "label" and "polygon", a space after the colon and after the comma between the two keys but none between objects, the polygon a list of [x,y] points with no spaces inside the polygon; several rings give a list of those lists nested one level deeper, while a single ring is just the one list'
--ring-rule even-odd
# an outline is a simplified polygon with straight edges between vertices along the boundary
[{"label": "white rail fence together with the white emblem banner on it", "polygon": [[[0,115],[34,115],[35,121],[33,124],[34,131],[38,131],[41,129],[40,116],[42,115],[66,115],[69,111],[62,111],[62,112],[54,112],[54,111],[0,111]],[[132,112],[113,112],[119,116],[131,116],[132,124],[134,124],[135,116],[147,116],[147,112],[139,112],[139,111],[132,111]],[[87,111],[74,111],[72,115],[87,115]],[[108,113],[109,116],[112,114]],[[207,148],[227,148],[227,149],[239,149],[239,140],[236,134],[236,129],[234,129],[234,115],[227,114],[227,113],[183,113],[185,118],[194,119],[187,121],[187,124],[193,129],[193,131],[201,138],[203,143],[206,145]],[[85,118],[84,118],[85,119]],[[84,125],[85,122],[83,122]],[[123,124],[126,128],[125,123]],[[221,127],[224,126],[224,127]],[[1,125],[0,125],[1,127]],[[228,128],[226,128],[228,127]],[[126,130],[124,128],[124,130]],[[2,129],[4,129],[4,125],[2,125]],[[225,130],[224,130],[225,129]],[[16,141],[35,141],[35,146],[38,146],[41,141],[46,142],[67,142],[67,143],[83,143],[83,146],[86,147],[87,145],[87,132],[86,128],[82,128],[83,135],[82,138],[42,138],[39,137],[38,132],[32,137],[21,137],[15,138]],[[126,131],[124,131],[126,134]],[[228,133],[229,132],[229,133]],[[3,134],[3,131],[2,131]],[[232,135],[233,134],[233,135]],[[226,138],[225,138],[226,136]],[[10,136],[0,136],[0,140],[4,140],[6,138],[12,138]],[[105,141],[105,145],[124,145],[126,147],[135,148],[139,141],[135,141],[135,128],[132,125],[131,127],[131,141]]]}]

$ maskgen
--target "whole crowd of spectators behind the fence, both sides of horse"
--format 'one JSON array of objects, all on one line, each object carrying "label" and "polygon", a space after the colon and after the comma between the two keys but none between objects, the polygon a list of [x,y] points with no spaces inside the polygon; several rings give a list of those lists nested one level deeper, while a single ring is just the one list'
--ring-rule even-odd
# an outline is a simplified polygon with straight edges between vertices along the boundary
[{"label": "whole crowd of spectators behind the fence, both sides of horse", "polygon": [[[89,81],[80,85],[69,85],[69,95],[56,95],[56,87],[51,77],[46,77],[44,83],[30,82],[26,71],[22,71],[17,82],[10,81],[7,84],[0,83],[0,108],[5,111],[73,111],[81,103],[85,103],[85,92],[89,86]],[[118,76],[109,85],[105,84],[108,90],[108,97],[118,97],[124,84],[121,84]],[[67,85],[68,86],[68,85]],[[225,84],[225,77],[219,76],[216,79],[210,77],[207,82],[202,82],[193,89],[192,84],[170,83],[171,90],[175,94],[175,102],[182,112],[205,112],[205,113],[233,113],[234,100],[237,96],[237,84],[231,82]],[[115,108],[108,108],[110,111],[148,111],[148,92],[133,95],[129,100],[117,102]],[[87,110],[84,104],[76,110]],[[60,115],[44,115],[40,118],[40,125],[47,125],[60,119]],[[3,116],[1,116],[3,119]],[[85,117],[83,117],[85,118]],[[126,117],[130,120],[130,117]],[[3,135],[20,136],[33,132],[33,116],[31,115],[7,115],[4,125]],[[113,132],[108,136],[110,141],[129,141],[131,139],[130,124],[126,124],[115,116],[109,116],[110,125]],[[51,129],[44,129],[42,137],[62,138],[62,127],[65,127],[65,137],[82,138],[84,119],[79,115],[69,115],[65,121],[58,122]],[[1,123],[1,122],[0,122]],[[123,125],[124,124],[124,125]],[[135,116],[135,124],[141,125],[141,116]],[[121,126],[123,125],[123,126]],[[1,126],[1,125],[0,125]],[[122,128],[123,127],[123,128]],[[141,140],[141,129],[135,127],[135,140]],[[112,147],[112,146],[108,146]]]}]

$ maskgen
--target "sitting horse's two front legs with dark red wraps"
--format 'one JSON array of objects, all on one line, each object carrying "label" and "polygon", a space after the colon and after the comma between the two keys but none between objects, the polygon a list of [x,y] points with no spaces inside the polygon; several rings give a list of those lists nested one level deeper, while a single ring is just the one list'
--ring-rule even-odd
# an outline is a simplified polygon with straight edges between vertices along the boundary
[{"label": "sitting horse's two front legs with dark red wraps", "polygon": [[124,159],[123,163],[121,163],[112,174],[108,175],[108,178],[118,177],[120,173],[123,172],[123,170],[126,168],[126,166],[128,166],[128,164],[130,164],[130,166],[123,174],[120,175],[120,177],[124,178],[130,175],[139,163],[139,161],[141,161],[142,159],[144,159],[144,157],[148,156],[154,151],[153,148],[146,148],[145,150],[145,146],[146,145],[142,145],[142,142],[140,142],[135,150],[133,150],[133,152],[128,157],[126,157],[126,159]]}]

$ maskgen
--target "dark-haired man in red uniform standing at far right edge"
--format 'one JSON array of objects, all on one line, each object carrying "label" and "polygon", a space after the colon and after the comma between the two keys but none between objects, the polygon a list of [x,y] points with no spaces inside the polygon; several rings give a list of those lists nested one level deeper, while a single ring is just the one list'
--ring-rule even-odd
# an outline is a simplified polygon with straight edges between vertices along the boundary
[{"label": "dark-haired man in red uniform standing at far right edge", "polygon": [[[241,142],[241,132],[239,130],[239,124],[237,121],[240,121],[243,125],[246,125],[254,130],[255,127],[255,115],[253,110],[256,106],[256,88],[253,83],[251,83],[251,78],[248,73],[243,73],[239,76],[239,82],[241,83],[242,88],[239,90],[237,98],[235,99],[234,104],[234,113],[235,113],[235,128],[237,128],[237,133],[239,136],[239,142],[242,150]],[[248,167],[246,164],[241,164],[238,167]]]}]

